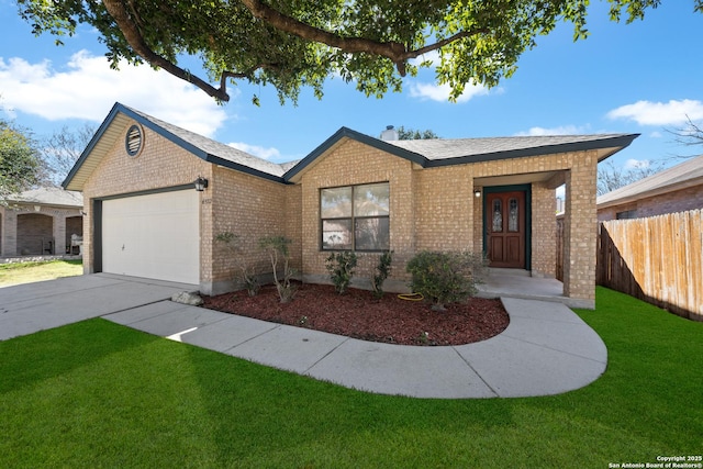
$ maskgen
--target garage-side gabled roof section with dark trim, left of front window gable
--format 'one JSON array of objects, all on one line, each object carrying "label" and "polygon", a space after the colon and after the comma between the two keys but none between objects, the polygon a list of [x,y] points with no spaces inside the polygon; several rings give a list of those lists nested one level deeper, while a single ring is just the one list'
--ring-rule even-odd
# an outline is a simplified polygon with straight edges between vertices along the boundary
[{"label": "garage-side gabled roof section with dark trim, left of front window gable", "polygon": [[124,130],[133,121],[138,122],[144,127],[156,132],[205,161],[283,182],[282,176],[288,168],[284,165],[257,158],[241,149],[169,124],[118,102],[113,105],[62,186],[67,189],[82,189],[82,185],[90,174],[110,152],[115,141],[124,137]]}]

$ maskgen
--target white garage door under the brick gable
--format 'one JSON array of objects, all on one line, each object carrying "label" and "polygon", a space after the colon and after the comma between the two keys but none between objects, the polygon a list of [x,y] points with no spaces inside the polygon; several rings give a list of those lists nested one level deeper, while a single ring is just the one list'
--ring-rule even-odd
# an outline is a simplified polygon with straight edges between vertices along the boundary
[{"label": "white garage door under the brick gable", "polygon": [[102,202],[102,271],[200,283],[194,190]]}]

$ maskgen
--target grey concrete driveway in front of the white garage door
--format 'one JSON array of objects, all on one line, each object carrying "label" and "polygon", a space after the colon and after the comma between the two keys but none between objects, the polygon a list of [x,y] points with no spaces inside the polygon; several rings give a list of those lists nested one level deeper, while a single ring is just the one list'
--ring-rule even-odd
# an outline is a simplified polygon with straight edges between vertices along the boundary
[{"label": "grey concrete driveway in front of the white garage door", "polygon": [[110,273],[0,288],[0,340],[170,299],[198,286]]}]

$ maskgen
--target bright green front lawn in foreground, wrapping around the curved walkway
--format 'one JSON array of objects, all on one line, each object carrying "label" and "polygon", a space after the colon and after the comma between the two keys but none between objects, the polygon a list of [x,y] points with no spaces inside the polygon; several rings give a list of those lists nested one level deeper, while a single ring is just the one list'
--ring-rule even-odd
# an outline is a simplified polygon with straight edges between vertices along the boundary
[{"label": "bright green front lawn in foreground, wrapping around the curved walkway", "polygon": [[703,453],[703,324],[605,289],[556,397],[367,394],[103,320],[0,343],[3,467],[605,468]]}]

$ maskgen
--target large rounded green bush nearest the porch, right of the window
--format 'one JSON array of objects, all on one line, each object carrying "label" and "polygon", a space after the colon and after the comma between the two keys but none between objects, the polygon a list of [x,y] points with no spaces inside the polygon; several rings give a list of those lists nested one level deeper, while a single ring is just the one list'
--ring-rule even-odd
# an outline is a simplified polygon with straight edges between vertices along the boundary
[{"label": "large rounded green bush nearest the porch, right of the window", "polygon": [[410,259],[406,271],[412,275],[412,291],[432,301],[434,311],[444,311],[445,304],[478,292],[476,286],[482,282],[486,266],[480,254],[423,250]]}]

